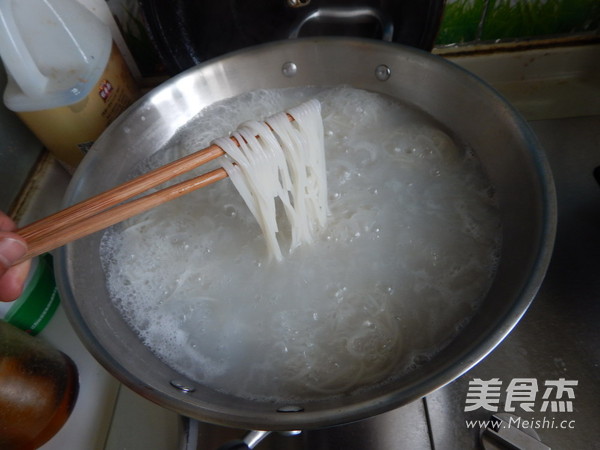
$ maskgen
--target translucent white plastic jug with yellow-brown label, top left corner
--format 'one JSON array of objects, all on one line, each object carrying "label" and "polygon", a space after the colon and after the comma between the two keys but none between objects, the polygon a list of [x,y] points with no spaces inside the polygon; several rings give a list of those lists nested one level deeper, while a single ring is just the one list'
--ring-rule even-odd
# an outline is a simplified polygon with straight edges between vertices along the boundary
[{"label": "translucent white plastic jug with yellow-brown label, top left corner", "polygon": [[77,0],[0,0],[4,103],[68,168],[138,97],[110,29]]}]

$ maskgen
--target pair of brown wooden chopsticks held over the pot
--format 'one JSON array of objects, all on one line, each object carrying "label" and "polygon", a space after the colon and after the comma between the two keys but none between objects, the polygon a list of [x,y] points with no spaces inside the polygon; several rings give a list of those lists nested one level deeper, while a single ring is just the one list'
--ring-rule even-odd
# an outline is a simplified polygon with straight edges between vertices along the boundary
[{"label": "pair of brown wooden chopsticks held over the pot", "polygon": [[28,252],[15,264],[226,178],[227,172],[223,168],[218,168],[144,197],[127,201],[224,154],[221,147],[213,144],[17,230],[17,233],[27,241]]}]

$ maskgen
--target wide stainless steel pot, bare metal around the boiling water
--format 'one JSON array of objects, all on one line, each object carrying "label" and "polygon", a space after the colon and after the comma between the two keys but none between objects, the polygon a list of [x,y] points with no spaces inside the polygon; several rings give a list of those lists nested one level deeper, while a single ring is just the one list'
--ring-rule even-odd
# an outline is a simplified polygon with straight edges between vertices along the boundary
[{"label": "wide stainless steel pot, bare metal around the boiling water", "polygon": [[60,293],[91,353],[131,389],[166,408],[237,428],[291,430],[355,421],[401,406],[484,358],[526,311],[550,259],[555,193],[526,123],[491,88],[428,53],[370,40],[318,38],[266,44],[220,57],[166,82],[96,142],[67,204],[123,181],[200,109],[258,88],[349,84],[417,105],[478,154],[497,192],[502,259],[473,320],[427,364],[393,384],[335,400],[276,404],[234,398],[186,379],[157,359],[112,306],[99,265],[100,234],[57,253]]}]

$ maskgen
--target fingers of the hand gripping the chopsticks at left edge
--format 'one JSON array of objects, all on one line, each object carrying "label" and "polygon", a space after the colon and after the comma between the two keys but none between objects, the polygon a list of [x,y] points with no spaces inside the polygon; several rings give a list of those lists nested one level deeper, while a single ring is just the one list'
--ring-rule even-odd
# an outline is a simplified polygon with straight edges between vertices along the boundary
[{"label": "fingers of the hand gripping the chopsticks at left edge", "polygon": [[14,233],[17,226],[0,211],[0,301],[9,302],[21,295],[31,266],[25,261],[11,267],[27,251],[25,240]]}]

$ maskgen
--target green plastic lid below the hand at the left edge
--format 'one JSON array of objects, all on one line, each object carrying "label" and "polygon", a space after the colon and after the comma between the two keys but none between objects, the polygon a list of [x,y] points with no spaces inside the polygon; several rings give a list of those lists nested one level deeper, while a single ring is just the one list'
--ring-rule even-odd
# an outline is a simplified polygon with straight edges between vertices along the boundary
[{"label": "green plastic lid below the hand at the left edge", "polygon": [[48,324],[59,303],[52,256],[45,254],[38,258],[36,267],[32,267],[23,293],[10,305],[4,320],[36,335]]}]

